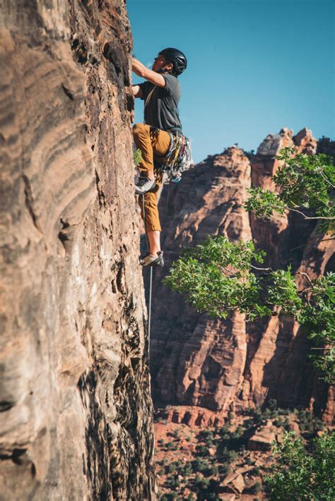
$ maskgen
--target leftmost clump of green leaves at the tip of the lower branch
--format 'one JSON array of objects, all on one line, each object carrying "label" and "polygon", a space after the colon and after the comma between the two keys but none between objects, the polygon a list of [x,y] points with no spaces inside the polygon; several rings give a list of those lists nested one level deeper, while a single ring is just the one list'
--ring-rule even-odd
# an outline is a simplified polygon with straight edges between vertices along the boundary
[{"label": "leftmost clump of green leaves at the tip of the lower branch", "polygon": [[230,243],[224,236],[209,236],[204,243],[183,251],[164,283],[185,294],[200,313],[226,318],[240,310],[249,318],[271,311],[259,303],[260,285],[250,273],[251,261],[263,262],[264,253],[252,242]]}]

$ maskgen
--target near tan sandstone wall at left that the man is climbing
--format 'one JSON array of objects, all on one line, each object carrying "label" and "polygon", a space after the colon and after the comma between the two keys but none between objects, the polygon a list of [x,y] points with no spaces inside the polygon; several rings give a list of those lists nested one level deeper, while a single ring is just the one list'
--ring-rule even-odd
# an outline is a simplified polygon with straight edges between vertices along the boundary
[{"label": "near tan sandstone wall at left that the man is climbing", "polygon": [[152,499],[122,0],[5,0],[1,499]]}]

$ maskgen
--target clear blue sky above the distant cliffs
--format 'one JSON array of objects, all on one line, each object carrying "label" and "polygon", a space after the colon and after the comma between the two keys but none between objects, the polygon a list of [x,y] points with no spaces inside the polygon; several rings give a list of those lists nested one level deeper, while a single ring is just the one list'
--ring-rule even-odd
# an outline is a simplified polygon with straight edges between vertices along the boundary
[{"label": "clear blue sky above the distant cliffs", "polygon": [[[188,59],[180,118],[195,162],[281,128],[334,139],[333,0],[127,0],[134,55]],[[151,66],[150,66],[151,67]],[[141,78],[134,75],[134,83]],[[143,102],[136,99],[136,121]]]}]

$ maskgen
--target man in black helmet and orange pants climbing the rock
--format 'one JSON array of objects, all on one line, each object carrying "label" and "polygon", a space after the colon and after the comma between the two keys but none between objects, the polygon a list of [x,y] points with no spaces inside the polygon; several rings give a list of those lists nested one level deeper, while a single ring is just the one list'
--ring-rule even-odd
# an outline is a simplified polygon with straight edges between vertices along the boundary
[{"label": "man in black helmet and orange pants climbing the rock", "polygon": [[182,132],[178,114],[180,83],[177,76],[187,67],[187,59],[178,49],[168,48],[159,52],[153,61],[152,70],[137,59],[132,59],[132,70],[146,82],[133,85],[134,97],[144,100],[144,123],[135,123],[134,142],[141,150],[139,164],[141,175],[136,183],[141,216],[143,218],[142,196],[149,253],[141,259],[142,266],[164,265],[160,250],[160,219],[158,214],[158,191],[163,181],[163,171],[155,168],[155,162],[164,164],[170,152],[173,133]]}]

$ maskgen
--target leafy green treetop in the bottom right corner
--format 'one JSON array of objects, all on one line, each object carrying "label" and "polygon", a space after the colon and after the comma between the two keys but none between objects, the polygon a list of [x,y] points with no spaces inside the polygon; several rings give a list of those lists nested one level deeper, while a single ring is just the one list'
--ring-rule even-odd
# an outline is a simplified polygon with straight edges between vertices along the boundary
[{"label": "leafy green treetop in the bottom right corner", "polygon": [[335,499],[335,433],[323,433],[306,452],[302,439],[290,432],[274,444],[276,463],[265,477],[271,500]]}]

